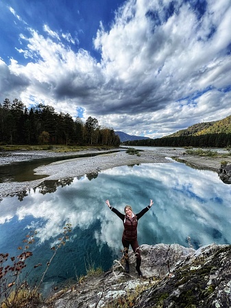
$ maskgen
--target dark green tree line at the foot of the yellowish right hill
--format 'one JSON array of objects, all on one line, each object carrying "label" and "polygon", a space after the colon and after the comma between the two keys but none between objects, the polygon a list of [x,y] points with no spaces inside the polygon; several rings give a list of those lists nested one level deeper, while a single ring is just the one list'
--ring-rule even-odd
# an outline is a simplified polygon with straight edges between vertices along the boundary
[{"label": "dark green tree line at the foot of the yellowish right hill", "polygon": [[127,146],[194,146],[225,148],[231,146],[231,133],[206,133],[200,136],[162,137],[125,141]]}]

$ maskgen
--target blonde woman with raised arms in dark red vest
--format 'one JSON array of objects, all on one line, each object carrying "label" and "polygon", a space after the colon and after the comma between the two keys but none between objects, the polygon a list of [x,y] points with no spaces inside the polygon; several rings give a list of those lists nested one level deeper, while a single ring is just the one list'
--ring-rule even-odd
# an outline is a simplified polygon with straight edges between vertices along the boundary
[{"label": "blonde woman with raised arms in dark red vest", "polygon": [[138,214],[133,213],[132,207],[130,207],[130,205],[126,205],[124,208],[125,214],[121,214],[120,211],[110,205],[109,200],[106,200],[106,204],[123,221],[124,229],[122,236],[122,244],[125,255],[125,271],[129,272],[128,248],[131,245],[132,250],[136,255],[136,270],[138,272],[138,276],[142,278],[143,274],[141,272],[141,251],[138,248],[137,225],[138,220],[150,209],[150,207],[153,205],[153,202],[150,199],[150,204],[144,209],[142,209],[142,211],[140,211]]}]

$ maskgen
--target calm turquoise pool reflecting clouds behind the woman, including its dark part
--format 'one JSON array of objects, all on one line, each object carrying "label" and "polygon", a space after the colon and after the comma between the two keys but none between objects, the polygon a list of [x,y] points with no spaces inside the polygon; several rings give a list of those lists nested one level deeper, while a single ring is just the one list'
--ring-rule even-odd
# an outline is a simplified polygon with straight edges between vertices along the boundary
[{"label": "calm turquoise pool reflecting clouds behind the woman, including its dark part", "polygon": [[[194,248],[216,242],[231,242],[231,185],[217,173],[194,170],[177,162],[123,166],[90,174],[80,179],[47,181],[21,198],[4,198],[0,203],[0,253],[19,255],[30,230],[38,231],[32,246],[32,265],[46,264],[66,223],[71,223],[71,240],[59,251],[45,277],[58,283],[85,274],[86,261],[108,270],[121,256],[122,221],[105,201],[123,211],[132,205],[141,211],[154,200],[139,220],[139,244],[173,244]],[[35,274],[44,268],[34,270]]]}]

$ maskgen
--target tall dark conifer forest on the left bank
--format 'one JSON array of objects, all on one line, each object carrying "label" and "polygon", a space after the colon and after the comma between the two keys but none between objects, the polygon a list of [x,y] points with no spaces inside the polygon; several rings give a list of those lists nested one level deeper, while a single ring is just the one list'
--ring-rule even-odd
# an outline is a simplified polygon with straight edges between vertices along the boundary
[{"label": "tall dark conifer forest on the left bank", "polygon": [[0,103],[0,125],[0,144],[120,144],[114,130],[99,126],[97,118],[73,120],[70,114],[58,114],[49,105],[28,109],[19,99]]}]

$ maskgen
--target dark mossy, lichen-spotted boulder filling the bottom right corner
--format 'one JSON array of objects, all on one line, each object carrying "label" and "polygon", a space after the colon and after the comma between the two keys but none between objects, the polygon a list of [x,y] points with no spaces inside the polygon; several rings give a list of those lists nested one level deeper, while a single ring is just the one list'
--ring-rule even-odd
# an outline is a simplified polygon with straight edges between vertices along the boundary
[{"label": "dark mossy, lichen-spotted boulder filling the bottom right corner", "polygon": [[136,301],[136,308],[231,307],[231,245],[199,248]]}]

